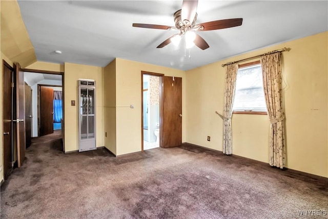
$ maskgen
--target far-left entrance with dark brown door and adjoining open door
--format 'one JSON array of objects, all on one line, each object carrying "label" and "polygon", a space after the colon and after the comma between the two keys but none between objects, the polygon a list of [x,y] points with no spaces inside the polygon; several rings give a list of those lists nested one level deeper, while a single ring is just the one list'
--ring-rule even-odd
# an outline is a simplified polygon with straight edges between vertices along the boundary
[{"label": "far-left entrance with dark brown door and adjoining open door", "polygon": [[3,142],[4,176],[25,159],[24,72],[18,63],[3,61]]}]

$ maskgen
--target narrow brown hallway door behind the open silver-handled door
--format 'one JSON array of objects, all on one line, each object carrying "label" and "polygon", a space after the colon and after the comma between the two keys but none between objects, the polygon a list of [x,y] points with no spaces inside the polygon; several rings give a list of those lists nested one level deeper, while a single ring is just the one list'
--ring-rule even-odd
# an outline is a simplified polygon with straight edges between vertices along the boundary
[{"label": "narrow brown hallway door behind the open silver-handled door", "polygon": [[32,89],[25,83],[25,139],[26,148],[31,145],[32,138]]}]

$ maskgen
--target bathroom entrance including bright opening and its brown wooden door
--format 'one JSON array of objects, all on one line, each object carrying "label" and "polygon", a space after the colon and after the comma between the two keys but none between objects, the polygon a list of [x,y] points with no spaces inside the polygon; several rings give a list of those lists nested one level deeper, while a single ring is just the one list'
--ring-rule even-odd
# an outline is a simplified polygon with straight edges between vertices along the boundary
[{"label": "bathroom entrance including bright opening and its brown wooden door", "polygon": [[182,78],[141,71],[141,151],[182,144]]}]

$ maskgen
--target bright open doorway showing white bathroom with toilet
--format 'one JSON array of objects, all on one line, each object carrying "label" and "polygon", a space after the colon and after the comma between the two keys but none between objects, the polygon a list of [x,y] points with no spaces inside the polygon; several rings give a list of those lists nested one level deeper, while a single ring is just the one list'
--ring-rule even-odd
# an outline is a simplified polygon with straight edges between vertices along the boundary
[{"label": "bright open doorway showing white bathroom with toilet", "polygon": [[142,151],[158,148],[161,145],[162,76],[163,74],[141,72]]}]

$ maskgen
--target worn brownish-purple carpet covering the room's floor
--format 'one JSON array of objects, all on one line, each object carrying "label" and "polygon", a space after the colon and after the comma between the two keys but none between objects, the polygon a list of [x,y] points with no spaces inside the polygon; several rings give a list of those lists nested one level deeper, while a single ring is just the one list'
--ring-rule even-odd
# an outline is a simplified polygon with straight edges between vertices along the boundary
[{"label": "worn brownish-purple carpet covering the room's floor", "polygon": [[64,154],[59,134],[34,139],[2,185],[2,218],[328,217],[326,178],[191,145]]}]

